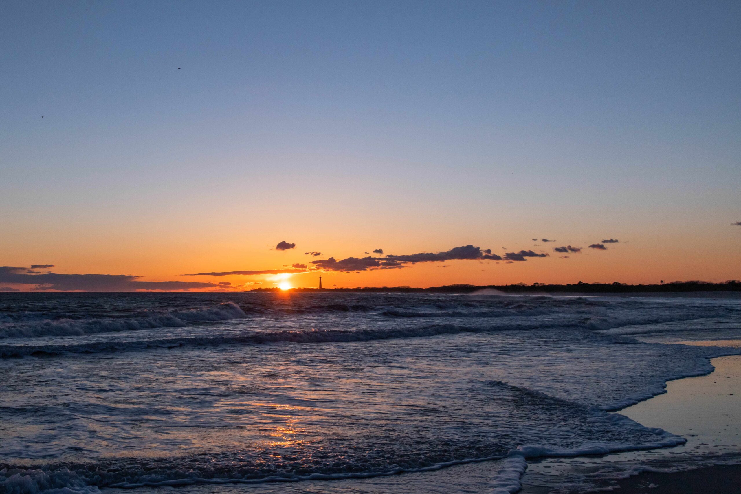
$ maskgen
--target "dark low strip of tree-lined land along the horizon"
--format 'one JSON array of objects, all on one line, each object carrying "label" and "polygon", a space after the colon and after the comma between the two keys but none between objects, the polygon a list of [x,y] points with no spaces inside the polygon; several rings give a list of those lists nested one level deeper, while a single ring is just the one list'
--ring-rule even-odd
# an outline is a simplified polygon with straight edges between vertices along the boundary
[{"label": "dark low strip of tree-lined land along the horizon", "polygon": [[[579,283],[575,284],[448,284],[442,287],[356,287],[356,288],[289,288],[291,292],[409,292],[409,293],[473,293],[479,290],[496,290],[503,293],[688,293],[688,292],[741,292],[741,281],[722,283],[708,281],[672,281],[661,284]],[[280,292],[280,288],[256,288],[251,292]]]}]

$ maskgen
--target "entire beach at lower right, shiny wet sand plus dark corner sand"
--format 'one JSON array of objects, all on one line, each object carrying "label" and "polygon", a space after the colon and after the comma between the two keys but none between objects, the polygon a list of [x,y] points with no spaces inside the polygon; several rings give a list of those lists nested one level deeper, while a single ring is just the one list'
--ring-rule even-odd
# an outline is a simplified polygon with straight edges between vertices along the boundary
[{"label": "entire beach at lower right, shiny wet sand plus dark corner sand", "polygon": [[[715,346],[720,341],[684,341]],[[729,341],[723,341],[724,346]],[[734,340],[734,347],[741,347]],[[741,356],[710,359],[714,370],[667,381],[666,393],[622,409],[645,427],[687,439],[656,450],[528,461],[523,494],[545,494],[559,484],[564,492],[614,490],[628,494],[741,492]],[[713,476],[708,484],[708,476]],[[715,478],[717,476],[717,478]]]}]

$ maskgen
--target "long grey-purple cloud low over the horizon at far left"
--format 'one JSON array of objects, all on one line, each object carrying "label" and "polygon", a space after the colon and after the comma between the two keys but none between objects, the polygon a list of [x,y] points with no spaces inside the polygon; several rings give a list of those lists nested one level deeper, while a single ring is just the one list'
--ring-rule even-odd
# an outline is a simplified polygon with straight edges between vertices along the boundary
[{"label": "long grey-purple cloud low over the horizon at far left", "polygon": [[133,275],[28,274],[25,267],[0,267],[0,283],[35,285],[33,290],[83,290],[87,292],[134,292],[136,290],[191,290],[218,285],[196,281],[139,281]]}]

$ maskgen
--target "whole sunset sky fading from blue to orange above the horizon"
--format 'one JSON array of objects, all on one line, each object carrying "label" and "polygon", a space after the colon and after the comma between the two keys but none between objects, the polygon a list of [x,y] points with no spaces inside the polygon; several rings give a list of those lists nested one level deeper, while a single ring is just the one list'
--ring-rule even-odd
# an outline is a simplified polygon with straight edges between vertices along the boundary
[{"label": "whole sunset sky fading from blue to orange above the horizon", "polygon": [[[740,24],[738,1],[5,1],[0,290],[741,278]],[[235,271],[263,273],[198,274]]]}]

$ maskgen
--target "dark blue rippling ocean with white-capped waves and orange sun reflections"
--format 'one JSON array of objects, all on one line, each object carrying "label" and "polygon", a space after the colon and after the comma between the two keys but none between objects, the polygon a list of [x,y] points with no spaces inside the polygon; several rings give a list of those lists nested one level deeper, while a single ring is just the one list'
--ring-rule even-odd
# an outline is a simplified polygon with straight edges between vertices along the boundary
[{"label": "dark blue rippling ocean with white-capped waves and orange sun reflections", "polygon": [[683,444],[615,411],[738,338],[737,296],[0,294],[0,490],[514,492]]}]

